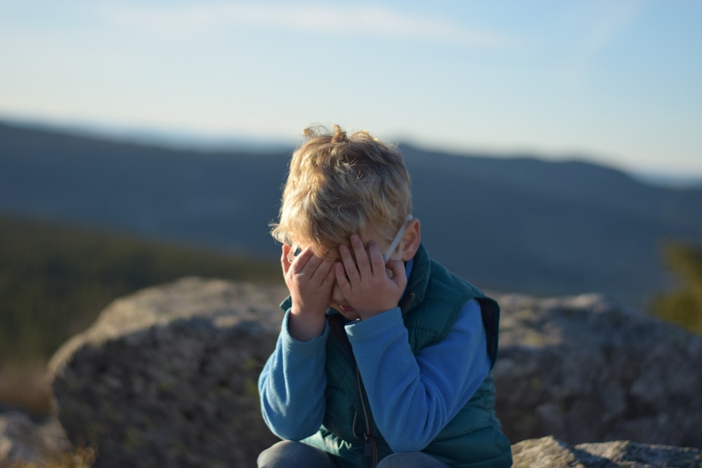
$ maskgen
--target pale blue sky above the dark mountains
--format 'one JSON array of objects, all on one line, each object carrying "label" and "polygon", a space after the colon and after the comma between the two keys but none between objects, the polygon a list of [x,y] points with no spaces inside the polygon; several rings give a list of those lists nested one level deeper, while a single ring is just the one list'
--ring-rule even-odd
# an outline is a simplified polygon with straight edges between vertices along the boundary
[{"label": "pale blue sky above the dark mountains", "polygon": [[702,179],[702,1],[0,0],[0,118]]}]

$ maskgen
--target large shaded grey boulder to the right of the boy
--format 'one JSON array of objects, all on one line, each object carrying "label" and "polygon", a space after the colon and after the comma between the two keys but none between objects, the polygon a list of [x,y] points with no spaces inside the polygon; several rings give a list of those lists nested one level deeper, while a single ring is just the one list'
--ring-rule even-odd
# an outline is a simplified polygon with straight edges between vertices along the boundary
[{"label": "large shaded grey boulder to the right of the boy", "polygon": [[512,441],[702,447],[702,337],[600,295],[498,299],[494,376]]}]

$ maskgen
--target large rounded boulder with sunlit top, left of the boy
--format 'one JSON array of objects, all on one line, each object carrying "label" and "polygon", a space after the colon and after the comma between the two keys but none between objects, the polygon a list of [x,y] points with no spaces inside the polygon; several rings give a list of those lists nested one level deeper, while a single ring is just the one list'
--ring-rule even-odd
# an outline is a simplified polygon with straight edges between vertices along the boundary
[{"label": "large rounded boulder with sunlit top, left of the boy", "polygon": [[188,278],[114,301],[49,365],[67,436],[98,467],[253,466],[276,440],[256,381],[284,294]]}]

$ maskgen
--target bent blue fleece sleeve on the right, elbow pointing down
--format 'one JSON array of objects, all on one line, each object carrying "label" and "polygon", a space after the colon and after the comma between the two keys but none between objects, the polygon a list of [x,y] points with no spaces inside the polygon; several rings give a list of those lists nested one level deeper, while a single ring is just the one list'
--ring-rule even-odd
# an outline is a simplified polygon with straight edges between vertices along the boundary
[{"label": "bent blue fleece sleeve on the right, elbow pointing down", "polygon": [[399,308],[346,326],[373,418],[395,452],[422,450],[490,370],[480,306],[470,300],[446,338],[412,354]]}]

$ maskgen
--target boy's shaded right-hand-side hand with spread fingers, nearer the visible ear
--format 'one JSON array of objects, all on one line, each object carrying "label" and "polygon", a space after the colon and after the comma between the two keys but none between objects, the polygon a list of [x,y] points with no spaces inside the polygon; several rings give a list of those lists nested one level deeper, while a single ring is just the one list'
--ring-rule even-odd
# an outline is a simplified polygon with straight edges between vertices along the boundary
[{"label": "boy's shaded right-hand-side hand with spread fingers, nearer the visible ear", "polygon": [[[357,234],[351,236],[350,243],[353,255],[348,246],[339,246],[341,262],[335,265],[336,281],[349,305],[361,319],[369,319],[397,307],[407,284],[404,263],[389,260],[385,265],[376,243],[370,241],[366,253],[363,241]],[[392,277],[386,269],[390,270]]]}]

